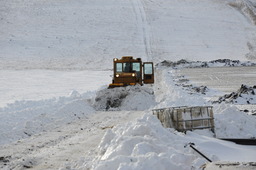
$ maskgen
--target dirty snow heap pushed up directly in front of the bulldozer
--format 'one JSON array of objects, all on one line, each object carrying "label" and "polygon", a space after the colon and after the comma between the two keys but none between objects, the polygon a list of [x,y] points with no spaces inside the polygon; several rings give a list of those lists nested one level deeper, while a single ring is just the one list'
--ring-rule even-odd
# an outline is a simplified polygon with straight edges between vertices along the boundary
[{"label": "dirty snow heap pushed up directly in front of the bulldozer", "polygon": [[153,90],[136,85],[102,89],[97,92],[93,106],[96,110],[146,110],[155,104]]}]

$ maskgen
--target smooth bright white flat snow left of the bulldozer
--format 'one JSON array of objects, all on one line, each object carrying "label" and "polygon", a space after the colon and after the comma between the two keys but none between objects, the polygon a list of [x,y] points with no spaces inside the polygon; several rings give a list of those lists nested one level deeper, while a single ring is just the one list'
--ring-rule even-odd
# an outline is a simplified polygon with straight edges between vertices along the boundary
[{"label": "smooth bright white flat snow left of the bulldozer", "polygon": [[[110,71],[1,70],[0,107],[22,100],[68,96],[70,92],[95,91],[111,82]],[[94,79],[99,79],[95,84]]]}]

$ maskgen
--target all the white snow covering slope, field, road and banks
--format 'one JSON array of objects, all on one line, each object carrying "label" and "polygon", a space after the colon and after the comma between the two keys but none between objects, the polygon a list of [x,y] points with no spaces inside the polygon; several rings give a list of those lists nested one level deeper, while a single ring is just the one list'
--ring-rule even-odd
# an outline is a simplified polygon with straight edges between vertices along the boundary
[{"label": "all the white snow covering slope, field, road and banks", "polygon": [[[106,89],[112,59],[124,55],[253,63],[255,0],[0,3],[1,169],[200,169],[207,160],[189,143],[214,162],[256,162],[255,146],[218,139],[255,138],[255,116],[212,104],[221,91],[182,86],[182,67],[158,65],[152,86]],[[208,105],[215,134],[180,133],[152,115]]]}]

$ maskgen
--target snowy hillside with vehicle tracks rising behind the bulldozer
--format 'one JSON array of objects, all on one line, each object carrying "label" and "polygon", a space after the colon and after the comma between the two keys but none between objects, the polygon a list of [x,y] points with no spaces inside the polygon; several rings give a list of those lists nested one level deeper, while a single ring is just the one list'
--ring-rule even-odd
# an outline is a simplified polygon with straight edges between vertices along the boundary
[{"label": "snowy hillside with vehicle tracks rising behind the bulldozer", "polygon": [[255,0],[2,0],[0,9],[1,70],[105,70],[123,55],[255,60]]}]

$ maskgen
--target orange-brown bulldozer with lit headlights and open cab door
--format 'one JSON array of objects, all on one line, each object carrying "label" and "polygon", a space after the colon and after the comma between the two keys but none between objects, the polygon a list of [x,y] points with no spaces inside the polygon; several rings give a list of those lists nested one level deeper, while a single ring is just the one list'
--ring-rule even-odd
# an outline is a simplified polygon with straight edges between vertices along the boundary
[{"label": "orange-brown bulldozer with lit headlights and open cab door", "polygon": [[113,79],[108,88],[154,83],[153,62],[142,62],[141,58],[123,56],[121,59],[114,58],[113,64]]}]

